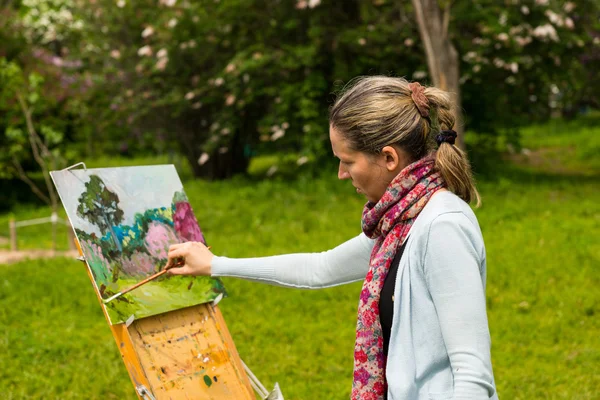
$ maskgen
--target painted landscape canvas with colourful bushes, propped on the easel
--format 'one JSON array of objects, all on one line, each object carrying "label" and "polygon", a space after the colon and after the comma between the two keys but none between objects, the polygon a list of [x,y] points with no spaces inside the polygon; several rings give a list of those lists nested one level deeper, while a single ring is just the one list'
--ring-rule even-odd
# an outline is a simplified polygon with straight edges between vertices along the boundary
[{"label": "painted landscape canvas with colourful bushes, propped on the easel", "polygon": [[[94,287],[103,299],[164,269],[170,245],[205,243],[172,165],[53,171]],[[111,324],[214,300],[210,277],[168,274],[103,307]]]}]

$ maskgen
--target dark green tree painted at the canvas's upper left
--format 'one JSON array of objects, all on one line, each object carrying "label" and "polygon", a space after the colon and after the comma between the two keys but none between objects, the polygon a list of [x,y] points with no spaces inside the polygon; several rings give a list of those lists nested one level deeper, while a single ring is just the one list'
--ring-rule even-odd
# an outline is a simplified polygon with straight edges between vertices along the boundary
[{"label": "dark green tree painted at the canvas's upper left", "polygon": [[108,190],[100,177],[90,175],[90,180],[85,184],[85,191],[79,196],[78,202],[77,215],[96,225],[103,235],[110,232],[117,249],[121,252],[121,242],[113,229],[123,221],[119,197]]}]

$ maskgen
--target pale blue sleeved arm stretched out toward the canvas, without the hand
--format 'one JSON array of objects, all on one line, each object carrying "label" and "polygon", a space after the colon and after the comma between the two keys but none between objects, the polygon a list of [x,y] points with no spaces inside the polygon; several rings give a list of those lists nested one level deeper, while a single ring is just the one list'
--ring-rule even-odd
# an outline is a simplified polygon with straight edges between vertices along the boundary
[{"label": "pale blue sleeved arm stretched out toward the canvas, without the hand", "polygon": [[320,289],[365,278],[373,241],[360,234],[321,253],[212,259],[212,276],[231,276],[278,286]]}]

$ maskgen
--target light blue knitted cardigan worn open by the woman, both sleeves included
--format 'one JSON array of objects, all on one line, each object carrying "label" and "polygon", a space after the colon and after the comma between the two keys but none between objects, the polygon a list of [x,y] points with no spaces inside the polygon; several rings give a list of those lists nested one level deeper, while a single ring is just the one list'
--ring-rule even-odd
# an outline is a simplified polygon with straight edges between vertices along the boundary
[{"label": "light blue knitted cardigan worn open by the woman, both sleeves included", "polygon": [[[497,399],[477,219],[438,192],[417,217],[398,268],[386,378],[389,400]],[[322,253],[215,257],[213,276],[294,288],[363,280],[373,241],[361,234]]]}]

